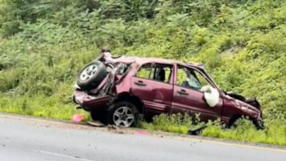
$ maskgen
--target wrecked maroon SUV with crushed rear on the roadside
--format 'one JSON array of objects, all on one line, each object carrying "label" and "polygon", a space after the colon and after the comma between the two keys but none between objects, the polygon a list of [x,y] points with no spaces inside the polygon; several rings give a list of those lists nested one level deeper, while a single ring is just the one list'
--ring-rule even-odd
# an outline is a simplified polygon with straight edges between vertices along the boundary
[{"label": "wrecked maroon SUV with crushed rear on the roadside", "polygon": [[159,59],[100,56],[78,74],[74,102],[91,113],[93,120],[116,126],[133,126],[143,116],[199,114],[201,121],[217,120],[232,125],[248,117],[263,129],[256,99],[222,91],[202,64]]}]

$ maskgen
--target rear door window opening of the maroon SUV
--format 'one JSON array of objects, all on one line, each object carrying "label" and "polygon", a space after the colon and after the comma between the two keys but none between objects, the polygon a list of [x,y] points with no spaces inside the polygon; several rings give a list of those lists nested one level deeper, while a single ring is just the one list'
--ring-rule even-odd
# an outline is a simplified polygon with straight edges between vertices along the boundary
[{"label": "rear door window opening of the maroon SUV", "polygon": [[169,64],[144,64],[138,70],[136,77],[170,83],[173,66]]}]

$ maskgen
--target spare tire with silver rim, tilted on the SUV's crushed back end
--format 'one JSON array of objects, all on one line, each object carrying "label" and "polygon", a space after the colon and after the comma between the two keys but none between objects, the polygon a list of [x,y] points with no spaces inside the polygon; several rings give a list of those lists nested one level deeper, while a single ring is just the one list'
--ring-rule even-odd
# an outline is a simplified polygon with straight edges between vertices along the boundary
[{"label": "spare tire with silver rim, tilted on the SUV's crushed back end", "polygon": [[106,67],[101,61],[90,62],[77,75],[77,85],[83,90],[90,90],[97,87],[106,75]]}]

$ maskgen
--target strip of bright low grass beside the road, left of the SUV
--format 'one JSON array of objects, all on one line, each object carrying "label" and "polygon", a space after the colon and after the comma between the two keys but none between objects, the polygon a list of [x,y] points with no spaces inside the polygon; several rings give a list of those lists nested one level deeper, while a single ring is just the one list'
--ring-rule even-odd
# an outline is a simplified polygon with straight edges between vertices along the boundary
[{"label": "strip of bright low grass beside the road, left of the SUV", "polygon": [[83,121],[90,120],[88,112],[77,110],[73,103],[61,103],[57,97],[1,97],[0,111],[16,114],[32,115],[44,118],[71,120],[74,114],[83,113]]}]

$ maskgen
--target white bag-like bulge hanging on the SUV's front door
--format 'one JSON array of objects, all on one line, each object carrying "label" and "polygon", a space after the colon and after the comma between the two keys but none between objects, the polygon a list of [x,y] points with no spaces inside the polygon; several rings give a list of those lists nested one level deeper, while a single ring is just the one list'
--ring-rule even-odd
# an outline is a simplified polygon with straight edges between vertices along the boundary
[{"label": "white bag-like bulge hanging on the SUV's front door", "polygon": [[203,97],[210,107],[215,107],[217,105],[220,100],[220,93],[217,89],[212,86],[203,86],[200,91],[203,92]]}]

